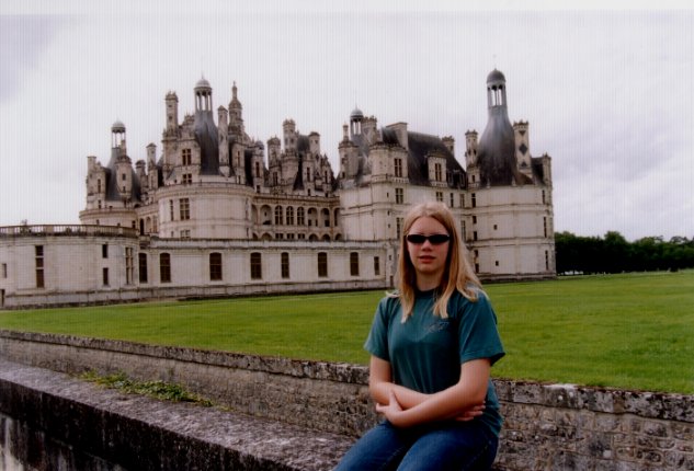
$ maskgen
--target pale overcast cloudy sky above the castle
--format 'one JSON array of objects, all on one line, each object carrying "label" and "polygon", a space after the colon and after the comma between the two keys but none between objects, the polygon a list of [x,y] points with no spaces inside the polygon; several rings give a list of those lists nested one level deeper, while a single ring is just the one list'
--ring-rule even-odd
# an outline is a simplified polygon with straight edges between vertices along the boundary
[{"label": "pale overcast cloudy sky above the castle", "polygon": [[498,68],[531,153],[553,158],[557,231],[694,237],[694,10],[679,2],[54,3],[0,5],[0,226],[79,222],[87,156],[107,163],[111,125],[133,161],[150,142],[159,154],[166,93],[182,117],[203,76],[215,108],[236,81],[263,142],[285,118],[318,131],[337,173],[355,106],[452,135],[464,163]]}]

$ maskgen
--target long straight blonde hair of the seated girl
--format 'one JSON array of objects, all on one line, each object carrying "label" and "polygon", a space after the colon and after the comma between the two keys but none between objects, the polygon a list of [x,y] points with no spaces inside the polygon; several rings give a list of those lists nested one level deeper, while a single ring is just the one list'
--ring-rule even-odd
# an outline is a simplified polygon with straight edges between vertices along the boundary
[{"label": "long straight blonde hair of the seated girl", "polygon": [[414,221],[423,217],[437,220],[446,229],[448,236],[451,236],[448,254],[446,255],[446,266],[441,277],[441,285],[439,285],[437,296],[434,302],[434,314],[442,319],[448,317],[448,300],[456,290],[470,301],[477,301],[478,291],[481,290],[481,283],[477,278],[477,275],[475,275],[467,260],[467,248],[460,239],[451,210],[446,205],[439,202],[417,205],[409,210],[402,223],[403,237],[400,241],[400,254],[398,255],[398,269],[396,273],[398,290],[390,295],[400,298],[402,322],[406,322],[412,314],[412,309],[414,308],[414,291],[417,289],[417,273],[410,260],[405,238]]}]

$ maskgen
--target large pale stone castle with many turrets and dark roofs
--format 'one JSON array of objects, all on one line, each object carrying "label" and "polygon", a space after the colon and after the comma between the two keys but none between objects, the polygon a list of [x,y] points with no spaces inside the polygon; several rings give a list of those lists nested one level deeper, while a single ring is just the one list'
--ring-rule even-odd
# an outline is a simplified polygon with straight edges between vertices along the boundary
[{"label": "large pale stone castle with many turrets and dark roofs", "polygon": [[452,137],[378,127],[359,108],[343,125],[335,175],[320,135],[283,123],[283,140],[246,131],[236,83],[213,111],[166,95],[161,151],[133,166],[126,127],[106,165],[88,157],[81,225],[0,228],[0,307],[115,302],[392,286],[408,208],[445,203],[482,280],[551,278],[551,166],[509,120],[503,73],[487,77],[488,123]]}]

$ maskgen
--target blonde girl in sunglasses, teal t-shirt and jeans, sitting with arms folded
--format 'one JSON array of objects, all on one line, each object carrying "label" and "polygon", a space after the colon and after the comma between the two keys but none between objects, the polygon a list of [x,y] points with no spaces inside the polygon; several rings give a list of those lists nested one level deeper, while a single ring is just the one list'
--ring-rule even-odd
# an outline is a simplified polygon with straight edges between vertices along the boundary
[{"label": "blonde girl in sunglasses, teal t-shirt and jeans, sitting with arms folded", "polygon": [[502,423],[489,376],[504,355],[496,314],[445,205],[413,207],[403,233],[398,290],[364,345],[385,421],[337,470],[488,470]]}]

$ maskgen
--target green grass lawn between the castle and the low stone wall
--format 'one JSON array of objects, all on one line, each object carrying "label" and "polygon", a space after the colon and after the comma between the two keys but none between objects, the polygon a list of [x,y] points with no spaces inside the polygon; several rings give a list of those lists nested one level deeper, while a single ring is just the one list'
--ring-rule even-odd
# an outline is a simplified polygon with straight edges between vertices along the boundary
[{"label": "green grass lawn between the castle and the low stone wall", "polygon": [[[694,271],[488,285],[496,377],[694,393]],[[0,329],[365,364],[383,291],[0,312]]]}]

